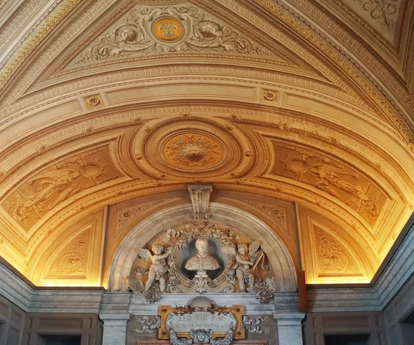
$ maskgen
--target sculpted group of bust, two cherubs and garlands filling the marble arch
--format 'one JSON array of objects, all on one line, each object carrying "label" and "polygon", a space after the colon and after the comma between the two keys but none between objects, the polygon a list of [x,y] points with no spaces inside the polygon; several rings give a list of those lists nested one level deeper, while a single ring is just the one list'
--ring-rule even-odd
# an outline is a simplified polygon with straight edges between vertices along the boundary
[{"label": "sculpted group of bust, two cherubs and garlands filling the marble arch", "polygon": [[169,228],[137,253],[126,279],[150,302],[163,293],[248,292],[261,302],[273,297],[273,270],[260,242],[219,224]]}]

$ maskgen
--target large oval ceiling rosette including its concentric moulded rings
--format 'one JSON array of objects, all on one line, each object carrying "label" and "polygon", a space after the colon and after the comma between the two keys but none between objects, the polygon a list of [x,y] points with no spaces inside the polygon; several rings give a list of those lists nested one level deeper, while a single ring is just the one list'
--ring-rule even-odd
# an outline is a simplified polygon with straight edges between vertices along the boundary
[{"label": "large oval ceiling rosette including its concentric moulded rings", "polygon": [[244,133],[202,117],[176,117],[148,127],[137,134],[130,152],[137,168],[155,179],[197,183],[242,175],[256,157]]}]

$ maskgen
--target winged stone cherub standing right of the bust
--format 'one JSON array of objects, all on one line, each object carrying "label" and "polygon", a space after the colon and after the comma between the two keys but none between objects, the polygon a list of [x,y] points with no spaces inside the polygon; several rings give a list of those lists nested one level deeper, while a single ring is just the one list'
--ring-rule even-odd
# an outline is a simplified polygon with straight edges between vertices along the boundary
[{"label": "winged stone cherub standing right of the bust", "polygon": [[223,247],[221,252],[226,255],[233,256],[236,259],[234,266],[236,270],[237,280],[239,282],[239,289],[242,292],[246,292],[246,283],[248,283],[248,291],[252,291],[255,285],[255,275],[253,270],[256,268],[259,261],[264,257],[264,253],[258,252],[260,242],[255,241],[250,246],[244,243],[237,244],[236,248]]}]

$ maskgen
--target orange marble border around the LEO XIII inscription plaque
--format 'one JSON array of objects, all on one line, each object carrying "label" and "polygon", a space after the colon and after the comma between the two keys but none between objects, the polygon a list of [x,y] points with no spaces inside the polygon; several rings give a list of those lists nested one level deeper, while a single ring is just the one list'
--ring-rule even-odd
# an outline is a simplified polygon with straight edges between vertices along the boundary
[{"label": "orange marble border around the LEO XIII inscription plaque", "polygon": [[[224,311],[230,312],[236,319],[235,333],[233,339],[245,339],[245,329],[242,328],[242,319],[244,315],[244,306],[228,306],[223,308]],[[161,315],[161,327],[158,329],[158,339],[169,339],[169,333],[167,330],[167,319],[171,313],[181,311],[177,306],[159,306],[158,314]],[[178,337],[187,337],[190,339],[190,333],[188,332],[177,332]],[[213,339],[215,337],[226,337],[226,332],[215,332],[213,333]],[[144,345],[144,344],[143,344]]]}]

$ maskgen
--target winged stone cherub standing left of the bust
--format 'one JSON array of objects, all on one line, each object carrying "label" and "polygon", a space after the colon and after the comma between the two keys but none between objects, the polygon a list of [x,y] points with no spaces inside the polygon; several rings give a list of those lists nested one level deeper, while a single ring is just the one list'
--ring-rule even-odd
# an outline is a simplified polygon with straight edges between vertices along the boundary
[{"label": "winged stone cherub standing left of the bust", "polygon": [[[137,249],[139,257],[142,259],[145,259],[146,262],[152,262],[152,265],[150,266],[150,270],[148,271],[148,280],[145,284],[145,291],[147,292],[151,286],[152,283],[155,282],[155,280],[159,281],[159,290],[161,290],[161,293],[164,293],[166,290],[166,273],[168,270],[168,266],[166,264],[166,257],[170,255],[171,251],[167,250],[166,253],[164,253],[164,247],[160,244],[154,244],[151,247],[152,253],[150,250],[145,248],[139,248]],[[163,254],[164,253],[164,254]]]}]

